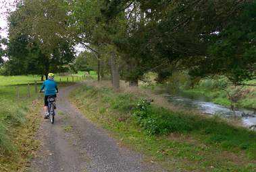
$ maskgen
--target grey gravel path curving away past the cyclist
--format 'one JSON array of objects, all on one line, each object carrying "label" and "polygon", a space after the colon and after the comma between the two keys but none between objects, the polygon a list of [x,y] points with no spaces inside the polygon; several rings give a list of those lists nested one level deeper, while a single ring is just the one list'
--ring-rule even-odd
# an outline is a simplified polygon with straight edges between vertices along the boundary
[{"label": "grey gravel path curving away past the cyclist", "polygon": [[93,125],[76,110],[68,95],[80,85],[59,91],[55,124],[43,122],[39,132],[43,147],[32,159],[30,171],[163,171],[157,165],[145,163],[139,153],[119,146],[106,130]]}]

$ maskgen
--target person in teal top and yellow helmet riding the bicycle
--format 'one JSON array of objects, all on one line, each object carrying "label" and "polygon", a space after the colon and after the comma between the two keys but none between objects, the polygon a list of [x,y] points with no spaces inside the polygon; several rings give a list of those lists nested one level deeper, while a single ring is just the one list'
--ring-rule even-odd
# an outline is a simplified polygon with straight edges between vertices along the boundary
[{"label": "person in teal top and yellow helmet riding the bicycle", "polygon": [[57,83],[54,81],[54,74],[49,73],[48,74],[48,79],[43,82],[43,85],[41,86],[40,92],[45,89],[45,106],[44,106],[44,111],[45,111],[45,119],[49,118],[49,114],[47,113],[48,109],[48,97],[53,96],[57,97],[56,93],[59,92],[59,89],[57,87]]}]

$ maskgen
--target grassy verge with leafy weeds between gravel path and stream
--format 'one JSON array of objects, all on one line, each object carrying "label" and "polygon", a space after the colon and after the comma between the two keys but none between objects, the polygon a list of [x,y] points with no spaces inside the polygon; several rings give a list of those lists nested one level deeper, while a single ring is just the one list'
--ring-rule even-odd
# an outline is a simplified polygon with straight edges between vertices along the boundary
[{"label": "grassy verge with leafy weeds between gravel path and stream", "polygon": [[105,88],[80,87],[71,99],[118,142],[170,171],[256,171],[255,132]]}]

